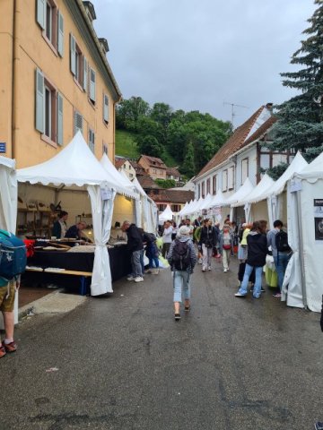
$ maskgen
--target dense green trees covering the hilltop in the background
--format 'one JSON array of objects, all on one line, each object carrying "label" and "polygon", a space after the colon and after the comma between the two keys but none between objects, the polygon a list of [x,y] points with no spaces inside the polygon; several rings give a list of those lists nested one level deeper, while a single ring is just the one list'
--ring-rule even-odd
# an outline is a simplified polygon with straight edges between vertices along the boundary
[{"label": "dense green trees covering the hilltop in the background", "polygon": [[199,111],[173,111],[166,103],[150,107],[141,98],[123,100],[117,108],[117,128],[135,133],[139,150],[162,159],[167,151],[181,173],[194,176],[232,133],[223,122]]}]

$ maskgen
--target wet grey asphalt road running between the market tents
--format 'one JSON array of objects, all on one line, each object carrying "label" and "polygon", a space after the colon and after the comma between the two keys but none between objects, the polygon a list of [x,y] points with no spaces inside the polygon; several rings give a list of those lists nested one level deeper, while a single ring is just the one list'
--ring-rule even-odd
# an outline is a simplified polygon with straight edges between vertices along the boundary
[{"label": "wet grey asphalt road running between the market tents", "polygon": [[170,271],[35,315],[0,360],[0,429],[306,430],[323,421],[319,314],[270,289],[234,297],[237,264],[193,275],[173,319]]}]

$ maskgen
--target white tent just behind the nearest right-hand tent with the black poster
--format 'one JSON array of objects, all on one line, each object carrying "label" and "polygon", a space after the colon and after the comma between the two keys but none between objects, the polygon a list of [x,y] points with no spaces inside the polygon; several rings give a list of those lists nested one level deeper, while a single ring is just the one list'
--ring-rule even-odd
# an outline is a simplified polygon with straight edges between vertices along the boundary
[{"label": "white tent just behind the nearest right-hand tent with the black poster", "polygon": [[[283,175],[280,176],[276,181],[275,185],[267,191],[267,205],[268,205],[268,217],[269,225],[273,226],[275,219],[282,218],[283,211],[283,197],[285,185],[287,181],[292,177],[294,173],[299,173],[303,168],[308,165],[307,161],[302,157],[301,152],[297,152],[290,166],[284,171]],[[286,199],[284,199],[286,202]]]}]

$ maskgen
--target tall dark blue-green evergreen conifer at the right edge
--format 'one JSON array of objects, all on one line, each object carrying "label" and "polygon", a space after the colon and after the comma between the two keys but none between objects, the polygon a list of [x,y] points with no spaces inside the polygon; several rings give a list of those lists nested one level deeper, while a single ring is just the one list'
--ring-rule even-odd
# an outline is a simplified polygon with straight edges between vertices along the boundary
[{"label": "tall dark blue-green evergreen conifer at the right edge", "polygon": [[323,0],[303,31],[308,39],[293,55],[298,72],[281,73],[283,85],[301,93],[278,106],[273,127],[273,150],[301,150],[309,161],[323,150]]}]

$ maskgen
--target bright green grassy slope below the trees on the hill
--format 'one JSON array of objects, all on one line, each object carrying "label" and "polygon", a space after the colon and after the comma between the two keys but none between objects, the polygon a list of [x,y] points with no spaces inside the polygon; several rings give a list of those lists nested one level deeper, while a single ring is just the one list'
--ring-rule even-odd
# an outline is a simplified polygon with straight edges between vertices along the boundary
[{"label": "bright green grassy slope below the trees on the hill", "polygon": [[[141,154],[135,142],[134,133],[116,130],[116,155],[128,159],[139,159]],[[160,158],[168,168],[177,166],[175,159],[167,151],[161,154]]]}]

